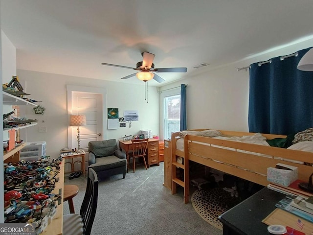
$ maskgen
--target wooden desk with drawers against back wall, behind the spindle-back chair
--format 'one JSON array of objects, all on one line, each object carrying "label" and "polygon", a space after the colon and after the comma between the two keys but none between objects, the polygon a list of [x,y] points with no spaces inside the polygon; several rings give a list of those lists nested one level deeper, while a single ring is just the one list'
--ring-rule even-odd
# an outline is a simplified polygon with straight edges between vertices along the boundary
[{"label": "wooden desk with drawers against back wall, behind the spindle-back chair", "polygon": [[[131,145],[132,145],[132,141],[119,140],[119,147],[121,150],[124,149],[126,153],[127,162],[129,161],[129,152],[132,150]],[[157,164],[157,165],[160,164],[159,159],[158,159],[158,140],[156,139],[149,139],[148,141],[146,163],[147,163],[148,168],[150,168],[150,165],[152,164]],[[127,168],[127,172],[128,172],[128,168]]]}]

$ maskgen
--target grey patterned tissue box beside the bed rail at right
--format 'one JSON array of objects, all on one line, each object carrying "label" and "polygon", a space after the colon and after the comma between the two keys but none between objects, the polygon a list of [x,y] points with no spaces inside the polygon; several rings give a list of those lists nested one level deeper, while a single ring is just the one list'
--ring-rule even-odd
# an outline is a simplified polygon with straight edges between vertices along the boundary
[{"label": "grey patterned tissue box beside the bed rail at right", "polygon": [[298,167],[278,163],[276,167],[268,167],[268,181],[282,186],[289,186],[298,179]]}]

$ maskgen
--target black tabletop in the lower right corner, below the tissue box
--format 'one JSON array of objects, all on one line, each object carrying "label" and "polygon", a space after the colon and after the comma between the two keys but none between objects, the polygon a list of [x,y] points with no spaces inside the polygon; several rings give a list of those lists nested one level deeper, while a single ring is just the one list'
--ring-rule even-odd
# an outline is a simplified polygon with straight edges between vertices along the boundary
[{"label": "black tabletop in the lower right corner, below the tissue box", "polygon": [[286,195],[263,188],[245,201],[220,215],[223,235],[268,235],[262,220],[276,209],[275,204]]}]

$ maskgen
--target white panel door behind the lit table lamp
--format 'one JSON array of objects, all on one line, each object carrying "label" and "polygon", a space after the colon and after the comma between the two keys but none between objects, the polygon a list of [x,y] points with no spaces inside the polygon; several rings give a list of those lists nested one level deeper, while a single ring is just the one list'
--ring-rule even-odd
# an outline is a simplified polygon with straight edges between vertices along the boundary
[{"label": "white panel door behind the lit table lamp", "polygon": [[[89,141],[103,140],[102,94],[72,92],[72,114],[85,114],[87,125],[79,127],[80,148],[88,152]],[[72,148],[77,148],[77,127],[72,129]]]}]

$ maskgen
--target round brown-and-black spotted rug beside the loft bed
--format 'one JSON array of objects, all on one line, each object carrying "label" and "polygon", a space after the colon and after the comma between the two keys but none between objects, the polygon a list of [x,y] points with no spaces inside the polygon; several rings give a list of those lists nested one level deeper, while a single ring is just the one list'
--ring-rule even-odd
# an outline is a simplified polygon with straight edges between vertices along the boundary
[{"label": "round brown-and-black spotted rug beside the loft bed", "polygon": [[196,190],[191,196],[192,206],[201,218],[220,230],[223,230],[223,224],[218,218],[219,215],[239,202],[239,198],[232,197],[223,188]]}]

